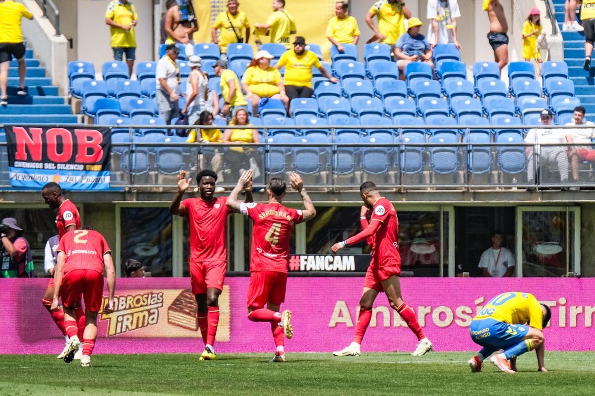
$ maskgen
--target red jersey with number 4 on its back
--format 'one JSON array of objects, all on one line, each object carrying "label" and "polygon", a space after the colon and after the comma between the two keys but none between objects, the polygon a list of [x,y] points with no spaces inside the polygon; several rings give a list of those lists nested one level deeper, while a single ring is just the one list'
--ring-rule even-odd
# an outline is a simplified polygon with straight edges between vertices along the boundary
[{"label": "red jersey with number 4 on its back", "polygon": [[254,221],[250,271],[287,272],[289,237],[302,222],[302,210],[280,203],[243,203],[240,211]]}]

